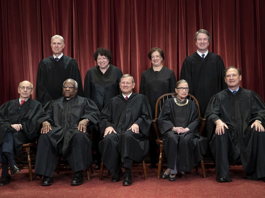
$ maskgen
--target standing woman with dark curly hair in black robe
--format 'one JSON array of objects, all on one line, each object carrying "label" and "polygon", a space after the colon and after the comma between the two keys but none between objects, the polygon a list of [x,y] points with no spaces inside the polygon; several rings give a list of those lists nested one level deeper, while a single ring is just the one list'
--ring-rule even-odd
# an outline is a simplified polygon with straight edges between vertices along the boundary
[{"label": "standing woman with dark curly hair in black robe", "polygon": [[[94,60],[97,65],[86,73],[84,97],[92,99],[101,111],[111,98],[121,94],[119,82],[122,71],[111,64],[112,53],[108,49],[98,48],[94,54]],[[94,133],[93,139],[97,152],[97,164],[94,169],[98,170],[101,163],[101,155],[98,151],[99,133]]]}]

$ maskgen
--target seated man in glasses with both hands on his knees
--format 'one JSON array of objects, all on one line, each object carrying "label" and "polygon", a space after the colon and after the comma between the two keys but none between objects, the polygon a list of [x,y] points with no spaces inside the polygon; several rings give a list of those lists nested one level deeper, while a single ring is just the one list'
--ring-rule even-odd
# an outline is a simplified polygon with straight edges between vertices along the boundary
[{"label": "seated man in glasses with both hands on his knees", "polygon": [[46,117],[37,120],[42,123],[39,137],[35,174],[43,177],[41,186],[53,183],[57,155],[64,155],[69,162],[74,178],[71,185],[84,183],[83,170],[92,164],[91,145],[88,131],[98,123],[99,110],[88,98],[77,96],[77,82],[67,79],[63,83],[63,96],[47,102]]}]

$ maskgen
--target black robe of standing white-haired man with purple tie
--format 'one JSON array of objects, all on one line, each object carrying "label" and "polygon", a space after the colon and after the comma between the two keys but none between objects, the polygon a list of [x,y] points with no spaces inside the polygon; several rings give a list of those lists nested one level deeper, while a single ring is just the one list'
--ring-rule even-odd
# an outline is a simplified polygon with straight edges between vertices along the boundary
[{"label": "black robe of standing white-haired man with purple tie", "polygon": [[77,82],[77,95],[83,96],[82,80],[74,58],[63,55],[58,62],[53,56],[41,60],[36,80],[36,100],[44,106],[48,101],[60,98],[63,83],[68,78]]}]

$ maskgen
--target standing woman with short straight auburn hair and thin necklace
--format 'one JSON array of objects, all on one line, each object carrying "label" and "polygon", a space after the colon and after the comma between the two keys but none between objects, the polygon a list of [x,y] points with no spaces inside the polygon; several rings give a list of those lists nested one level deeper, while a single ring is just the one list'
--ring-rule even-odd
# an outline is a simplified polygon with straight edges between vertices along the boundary
[{"label": "standing woman with short straight auburn hair and thin necklace", "polygon": [[[148,53],[148,58],[152,67],[142,73],[139,93],[147,97],[152,111],[152,118],[155,118],[155,104],[157,99],[165,93],[174,92],[176,77],[174,71],[164,67],[164,52],[162,49],[154,47]],[[149,155],[151,165],[149,168],[155,168],[157,163],[157,145],[155,143],[156,135],[154,130],[149,132]]]}]

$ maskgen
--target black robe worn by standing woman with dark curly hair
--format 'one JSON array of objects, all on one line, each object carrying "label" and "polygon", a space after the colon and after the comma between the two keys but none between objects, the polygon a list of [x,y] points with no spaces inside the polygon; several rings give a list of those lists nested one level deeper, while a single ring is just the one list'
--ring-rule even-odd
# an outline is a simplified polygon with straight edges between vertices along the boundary
[{"label": "black robe worn by standing woman with dark curly hair", "polygon": [[101,111],[111,98],[122,93],[119,85],[121,77],[122,71],[111,64],[104,74],[99,66],[92,67],[86,73],[84,97],[92,99]]}]

